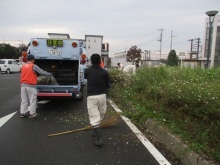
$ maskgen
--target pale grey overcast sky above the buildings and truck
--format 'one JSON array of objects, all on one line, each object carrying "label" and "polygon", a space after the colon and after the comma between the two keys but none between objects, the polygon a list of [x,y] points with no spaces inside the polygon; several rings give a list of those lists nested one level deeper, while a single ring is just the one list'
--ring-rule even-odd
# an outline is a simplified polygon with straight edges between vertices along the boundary
[{"label": "pale grey overcast sky above the buildings and truck", "polygon": [[137,45],[162,54],[172,48],[189,51],[188,39],[201,38],[205,12],[220,12],[220,0],[0,0],[0,43],[27,44],[47,33],[68,33],[71,38],[103,35],[110,55]]}]

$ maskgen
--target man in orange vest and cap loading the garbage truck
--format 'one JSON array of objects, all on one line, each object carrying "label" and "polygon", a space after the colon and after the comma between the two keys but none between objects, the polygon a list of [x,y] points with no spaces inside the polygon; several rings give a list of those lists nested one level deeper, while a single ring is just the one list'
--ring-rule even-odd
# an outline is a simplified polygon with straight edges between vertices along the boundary
[{"label": "man in orange vest and cap loading the garbage truck", "polygon": [[27,56],[27,63],[22,65],[21,68],[21,107],[20,117],[37,117],[37,76],[51,76],[37,65],[34,64],[35,57],[33,55]]}]

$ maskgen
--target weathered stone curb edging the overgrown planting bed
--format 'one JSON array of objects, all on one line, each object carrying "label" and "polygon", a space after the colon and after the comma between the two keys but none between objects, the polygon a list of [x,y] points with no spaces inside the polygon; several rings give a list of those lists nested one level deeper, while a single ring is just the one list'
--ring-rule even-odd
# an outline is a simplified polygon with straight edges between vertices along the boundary
[{"label": "weathered stone curb edging the overgrown planting bed", "polygon": [[217,165],[214,162],[205,160],[200,155],[193,151],[190,151],[188,146],[184,144],[179,137],[176,137],[169,133],[169,131],[158,125],[156,122],[148,119],[144,124],[144,127],[148,129],[158,140],[166,145],[171,151],[186,165]]}]

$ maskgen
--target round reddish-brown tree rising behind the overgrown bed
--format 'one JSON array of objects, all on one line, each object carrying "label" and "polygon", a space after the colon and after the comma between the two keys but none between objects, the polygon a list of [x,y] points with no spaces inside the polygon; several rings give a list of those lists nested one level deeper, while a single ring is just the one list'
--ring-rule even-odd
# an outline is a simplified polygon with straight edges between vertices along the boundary
[{"label": "round reddish-brown tree rising behind the overgrown bed", "polygon": [[127,52],[126,60],[133,64],[139,63],[141,61],[141,49],[138,49],[136,45],[132,46]]}]

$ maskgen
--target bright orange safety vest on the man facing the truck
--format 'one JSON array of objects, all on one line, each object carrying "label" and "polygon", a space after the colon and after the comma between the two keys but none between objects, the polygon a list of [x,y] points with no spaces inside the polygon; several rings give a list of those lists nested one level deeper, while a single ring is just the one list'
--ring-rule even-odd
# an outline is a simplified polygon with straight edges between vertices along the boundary
[{"label": "bright orange safety vest on the man facing the truck", "polygon": [[21,68],[21,84],[37,84],[37,74],[33,71],[33,63],[23,64]]}]

